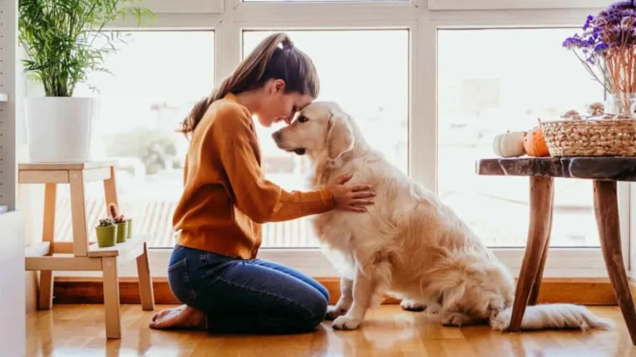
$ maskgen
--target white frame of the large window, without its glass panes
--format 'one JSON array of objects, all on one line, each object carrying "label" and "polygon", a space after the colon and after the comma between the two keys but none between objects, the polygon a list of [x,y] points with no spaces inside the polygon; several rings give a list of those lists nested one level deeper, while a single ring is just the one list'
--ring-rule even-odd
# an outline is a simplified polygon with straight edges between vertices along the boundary
[{"label": "white frame of the large window, without its glass panes", "polygon": [[[155,0],[155,3],[172,0]],[[220,0],[218,0],[220,1]],[[197,8],[197,3],[201,7]],[[215,78],[219,83],[241,58],[242,31],[254,29],[361,29],[401,28],[410,30],[410,108],[409,169],[410,175],[427,188],[436,190],[437,172],[437,83],[436,33],[439,28],[477,27],[558,27],[578,26],[591,11],[606,6],[598,0],[537,0],[534,10],[516,5],[515,0],[418,0],[418,1],[343,1],[242,3],[225,0],[223,13],[211,11],[210,1],[190,0],[188,13],[159,13],[151,28],[214,29]],[[472,4],[467,11],[466,4]],[[529,3],[521,1],[519,3]],[[581,9],[597,6],[596,10]],[[601,4],[602,3],[602,4]],[[538,6],[537,8],[537,4]],[[161,8],[161,6],[159,6]],[[570,8],[563,10],[559,8]],[[174,9],[174,6],[162,9]],[[488,10],[487,9],[497,9]],[[453,10],[453,11],[446,11]],[[170,10],[171,11],[171,10]],[[127,24],[113,24],[125,29]],[[417,100],[413,100],[417,98]],[[417,138],[417,139],[413,139]],[[429,153],[413,155],[413,153]],[[432,154],[432,156],[430,155]],[[434,159],[430,159],[434,157]],[[558,195],[558,192],[555,192]],[[591,197],[592,192],[588,193]],[[630,185],[619,183],[619,209],[625,262],[630,262]],[[172,249],[151,249],[151,274],[165,277]],[[518,272],[523,248],[494,248],[513,272]],[[337,272],[319,249],[266,249],[260,258],[284,263],[314,277],[337,276]],[[134,263],[121,267],[122,276],[136,276]],[[57,274],[92,275],[82,272]],[[607,277],[600,248],[551,248],[545,276]]]}]

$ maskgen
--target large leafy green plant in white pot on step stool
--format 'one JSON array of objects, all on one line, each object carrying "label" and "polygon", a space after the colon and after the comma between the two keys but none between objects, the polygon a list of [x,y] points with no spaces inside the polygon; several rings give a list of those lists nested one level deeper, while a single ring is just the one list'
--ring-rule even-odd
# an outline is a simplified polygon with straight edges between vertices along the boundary
[{"label": "large leafy green plant in white pot on step stool", "polygon": [[19,0],[18,41],[27,55],[24,71],[45,94],[25,99],[33,162],[90,160],[98,103],[93,97],[73,97],[73,92],[88,74],[107,72],[102,67],[104,56],[124,43],[119,32],[104,29],[107,24],[132,15],[139,25],[142,18],[153,15],[138,1]]}]

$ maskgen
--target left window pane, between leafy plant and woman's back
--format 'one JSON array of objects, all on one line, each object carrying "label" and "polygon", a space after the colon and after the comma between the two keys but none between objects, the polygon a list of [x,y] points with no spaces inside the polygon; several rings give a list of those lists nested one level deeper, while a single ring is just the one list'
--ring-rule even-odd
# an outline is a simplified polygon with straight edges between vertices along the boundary
[{"label": "left window pane, between leafy plant and woman's back", "polygon": [[[108,73],[95,73],[76,96],[100,99],[93,127],[95,157],[119,160],[121,213],[133,218],[134,234],[148,234],[150,247],[172,247],[172,213],[183,191],[188,141],[175,132],[195,102],[214,85],[214,32],[121,32],[127,45],[106,57]],[[100,46],[102,43],[95,45]],[[106,214],[101,183],[86,187],[89,239]],[[69,191],[59,185],[56,239],[72,236]]]}]

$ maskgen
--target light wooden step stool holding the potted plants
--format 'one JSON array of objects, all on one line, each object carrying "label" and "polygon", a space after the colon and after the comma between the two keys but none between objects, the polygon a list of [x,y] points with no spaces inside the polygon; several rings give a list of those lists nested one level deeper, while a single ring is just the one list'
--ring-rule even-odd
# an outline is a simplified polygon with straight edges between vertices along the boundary
[{"label": "light wooden step stool holding the potted plants", "polygon": [[[113,247],[99,248],[88,243],[86,225],[85,183],[104,181],[106,206],[118,204],[114,162],[83,164],[19,164],[18,183],[45,184],[44,223],[42,242],[26,249],[26,270],[39,270],[38,309],[53,305],[53,270],[101,270],[104,276],[104,316],[106,337],[121,338],[121,311],[118,265],[137,259],[139,295],[144,311],[155,309],[148,246],[144,239],[132,237]],[[71,222],[73,242],[55,242],[55,196],[57,184],[71,185]]]}]

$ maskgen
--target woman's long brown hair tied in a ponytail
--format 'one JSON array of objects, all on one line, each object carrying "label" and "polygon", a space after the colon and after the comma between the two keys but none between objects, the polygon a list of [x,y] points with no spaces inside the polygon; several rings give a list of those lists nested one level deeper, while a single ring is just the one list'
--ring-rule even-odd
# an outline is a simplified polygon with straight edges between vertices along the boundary
[{"label": "woman's long brown hair tied in a ponytail", "polygon": [[294,47],[287,34],[279,32],[263,39],[209,97],[197,102],[178,131],[187,136],[195,130],[214,101],[228,93],[238,94],[259,88],[272,78],[284,80],[287,93],[298,92],[318,97],[320,84],[314,62]]}]

